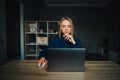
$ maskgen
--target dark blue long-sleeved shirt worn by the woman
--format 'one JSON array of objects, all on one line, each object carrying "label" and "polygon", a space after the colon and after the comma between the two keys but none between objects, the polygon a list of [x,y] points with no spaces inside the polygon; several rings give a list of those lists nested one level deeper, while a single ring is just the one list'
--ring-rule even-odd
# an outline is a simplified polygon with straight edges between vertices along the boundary
[{"label": "dark blue long-sleeved shirt worn by the woman", "polygon": [[[74,40],[76,43],[72,44],[71,42],[65,40],[63,37],[59,38],[58,36],[56,36],[50,41],[47,48],[82,48],[83,47],[79,38],[75,37]],[[41,51],[38,59],[40,59],[41,57],[45,57],[47,59],[47,56],[45,54],[47,48],[44,48]]]}]

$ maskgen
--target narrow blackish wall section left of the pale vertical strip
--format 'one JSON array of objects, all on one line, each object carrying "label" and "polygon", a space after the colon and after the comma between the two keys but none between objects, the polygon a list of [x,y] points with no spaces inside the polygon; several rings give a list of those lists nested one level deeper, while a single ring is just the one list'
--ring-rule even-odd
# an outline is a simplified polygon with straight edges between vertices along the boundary
[{"label": "narrow blackish wall section left of the pale vertical strip", "polygon": [[16,0],[6,0],[7,59],[20,55],[19,4]]}]

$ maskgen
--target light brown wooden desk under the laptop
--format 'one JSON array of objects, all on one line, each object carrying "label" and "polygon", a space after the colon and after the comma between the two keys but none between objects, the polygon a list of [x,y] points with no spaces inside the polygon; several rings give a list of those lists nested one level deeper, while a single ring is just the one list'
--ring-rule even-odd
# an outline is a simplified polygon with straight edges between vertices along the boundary
[{"label": "light brown wooden desk under the laptop", "polygon": [[47,72],[35,60],[14,60],[0,66],[0,80],[120,80],[120,65],[86,61],[85,72]]}]

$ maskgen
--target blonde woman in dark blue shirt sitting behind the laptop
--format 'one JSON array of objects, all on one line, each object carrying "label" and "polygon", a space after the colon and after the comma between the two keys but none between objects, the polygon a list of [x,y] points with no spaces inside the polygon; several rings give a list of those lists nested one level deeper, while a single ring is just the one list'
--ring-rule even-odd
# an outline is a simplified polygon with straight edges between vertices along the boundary
[{"label": "blonde woman in dark blue shirt sitting behind the laptop", "polygon": [[[74,25],[69,17],[61,18],[59,22],[59,34],[51,40],[48,48],[82,48],[80,40],[74,34]],[[47,65],[46,50],[43,49],[40,53],[38,65],[42,65],[43,63]]]}]

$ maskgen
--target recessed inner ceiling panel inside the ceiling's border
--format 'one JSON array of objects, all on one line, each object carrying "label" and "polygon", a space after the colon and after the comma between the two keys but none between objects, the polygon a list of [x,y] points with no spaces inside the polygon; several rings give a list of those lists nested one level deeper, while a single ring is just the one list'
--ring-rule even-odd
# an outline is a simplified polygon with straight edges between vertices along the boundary
[{"label": "recessed inner ceiling panel inside the ceiling's border", "polygon": [[48,6],[105,6],[113,0],[44,0]]}]

